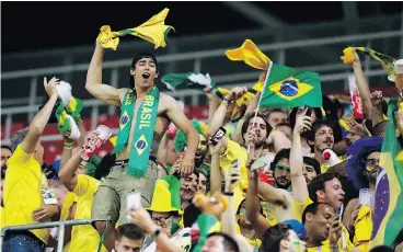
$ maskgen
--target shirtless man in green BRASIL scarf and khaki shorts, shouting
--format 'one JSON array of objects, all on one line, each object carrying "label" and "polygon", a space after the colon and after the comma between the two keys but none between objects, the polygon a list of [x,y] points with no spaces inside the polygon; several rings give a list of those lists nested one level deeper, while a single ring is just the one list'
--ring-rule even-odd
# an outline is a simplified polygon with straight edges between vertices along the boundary
[{"label": "shirtless man in green BRASIL scarf and khaki shorts, shouting", "polygon": [[[170,123],[174,123],[187,137],[187,151],[182,161],[181,171],[192,173],[198,134],[184,115],[179,103],[154,84],[159,69],[157,58],[151,54],[138,54],[131,62],[130,87],[117,89],[102,83],[102,61],[104,48],[96,43],[95,51],[87,73],[85,89],[99,100],[120,106],[119,131],[113,153],[116,163],[105,181],[101,183],[94,196],[92,218],[97,231],[103,232],[106,220],[112,225],[122,218],[126,206],[126,196],[130,192],[142,195],[141,204],[148,207],[158,179],[156,156],[162,135]],[[116,232],[107,230],[116,240]],[[106,244],[108,249],[113,243]]]}]

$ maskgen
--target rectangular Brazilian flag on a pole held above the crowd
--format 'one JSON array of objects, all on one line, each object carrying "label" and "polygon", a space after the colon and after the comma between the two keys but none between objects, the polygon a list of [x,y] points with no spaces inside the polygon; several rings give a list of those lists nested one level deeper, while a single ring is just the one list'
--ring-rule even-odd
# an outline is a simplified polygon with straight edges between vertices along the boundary
[{"label": "rectangular Brazilian flag on a pole held above the crowd", "polygon": [[273,64],[263,91],[261,107],[322,107],[319,75]]}]

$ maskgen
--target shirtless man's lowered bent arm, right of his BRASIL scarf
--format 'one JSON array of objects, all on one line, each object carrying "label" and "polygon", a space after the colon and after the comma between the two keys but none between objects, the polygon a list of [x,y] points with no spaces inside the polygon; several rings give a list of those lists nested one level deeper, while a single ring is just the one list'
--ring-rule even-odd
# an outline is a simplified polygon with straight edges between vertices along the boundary
[{"label": "shirtless man's lowered bent arm, right of his BRASIL scarf", "polygon": [[191,121],[183,113],[176,100],[169,95],[164,95],[163,98],[166,106],[166,116],[174,125],[176,125],[179,129],[183,131],[187,138],[187,150],[182,160],[181,173],[189,175],[195,167],[195,153],[199,140],[198,133],[195,127],[193,127]]}]

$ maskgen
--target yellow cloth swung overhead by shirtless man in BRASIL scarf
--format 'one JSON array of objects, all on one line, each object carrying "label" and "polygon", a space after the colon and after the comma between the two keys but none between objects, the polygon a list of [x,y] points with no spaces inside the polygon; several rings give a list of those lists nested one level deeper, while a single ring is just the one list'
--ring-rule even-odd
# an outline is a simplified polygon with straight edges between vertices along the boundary
[{"label": "yellow cloth swung overhead by shirtless man in BRASIL scarf", "polygon": [[165,25],[165,18],[169,11],[170,9],[165,8],[157,15],[153,15],[146,23],[134,28],[125,28],[118,32],[112,32],[110,25],[104,25],[100,28],[101,33],[96,37],[96,41],[101,43],[104,48],[112,48],[113,50],[116,50],[116,47],[119,44],[118,37],[130,34],[154,44],[156,49],[160,46],[165,47],[166,34],[170,32],[170,30],[175,31],[173,26]]}]

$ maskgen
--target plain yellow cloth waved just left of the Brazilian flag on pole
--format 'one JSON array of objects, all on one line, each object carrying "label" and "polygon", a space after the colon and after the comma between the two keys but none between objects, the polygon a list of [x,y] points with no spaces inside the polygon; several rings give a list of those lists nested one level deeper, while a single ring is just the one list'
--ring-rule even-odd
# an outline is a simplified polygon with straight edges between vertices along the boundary
[{"label": "plain yellow cloth waved just left of the Brazilian flag on pole", "polygon": [[246,65],[264,71],[268,69],[272,61],[251,39],[245,39],[237,49],[227,50],[226,55],[232,61],[243,60]]}]

